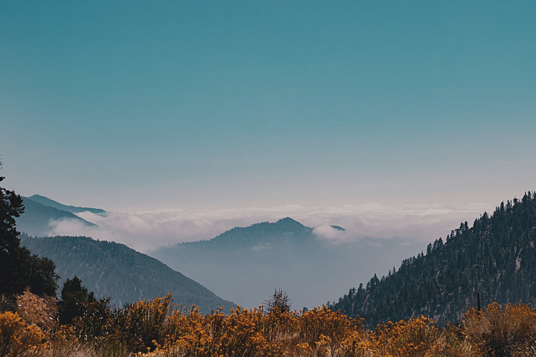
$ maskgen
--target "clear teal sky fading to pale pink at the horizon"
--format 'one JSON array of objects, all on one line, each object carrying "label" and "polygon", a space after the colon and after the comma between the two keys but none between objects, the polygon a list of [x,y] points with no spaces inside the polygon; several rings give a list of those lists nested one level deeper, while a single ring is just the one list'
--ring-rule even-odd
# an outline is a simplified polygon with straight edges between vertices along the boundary
[{"label": "clear teal sky fading to pale pink at the horizon", "polygon": [[3,1],[6,186],[105,209],[536,189],[533,1]]}]

